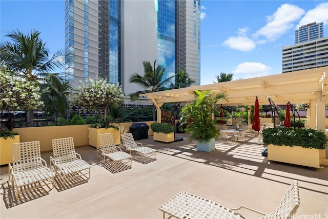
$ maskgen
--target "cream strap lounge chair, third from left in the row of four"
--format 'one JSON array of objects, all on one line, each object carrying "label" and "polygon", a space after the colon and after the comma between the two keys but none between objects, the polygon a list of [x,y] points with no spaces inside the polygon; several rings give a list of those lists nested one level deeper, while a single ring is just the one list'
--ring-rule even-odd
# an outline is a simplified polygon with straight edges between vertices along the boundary
[{"label": "cream strap lounge chair, third from left in the row of four", "polygon": [[97,148],[97,157],[103,158],[104,163],[106,163],[106,158],[109,158],[113,163],[113,172],[117,163],[130,163],[130,167],[132,166],[132,156],[116,147],[113,133],[98,134],[98,137],[100,147]]}]

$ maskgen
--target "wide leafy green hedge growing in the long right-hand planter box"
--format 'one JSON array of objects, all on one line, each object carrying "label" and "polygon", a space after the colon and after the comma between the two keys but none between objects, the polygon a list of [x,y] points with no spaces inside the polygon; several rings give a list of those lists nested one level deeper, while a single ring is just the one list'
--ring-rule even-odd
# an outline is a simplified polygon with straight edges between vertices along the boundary
[{"label": "wide leafy green hedge growing in the long right-hand planter box", "polygon": [[262,135],[264,145],[325,149],[328,144],[328,137],[323,131],[308,128],[267,128],[263,129]]}]

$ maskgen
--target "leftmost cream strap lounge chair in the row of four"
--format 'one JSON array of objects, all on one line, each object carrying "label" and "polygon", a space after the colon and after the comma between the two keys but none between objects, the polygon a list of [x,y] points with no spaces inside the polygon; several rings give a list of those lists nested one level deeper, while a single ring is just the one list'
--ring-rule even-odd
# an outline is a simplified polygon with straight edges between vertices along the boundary
[{"label": "leftmost cream strap lounge chair in the row of four", "polygon": [[[40,142],[22,142],[12,145],[12,165],[9,168],[9,181],[15,188],[16,198],[19,193],[47,186],[54,186],[55,174],[47,167],[40,155]],[[50,188],[49,185],[52,185]]]}]

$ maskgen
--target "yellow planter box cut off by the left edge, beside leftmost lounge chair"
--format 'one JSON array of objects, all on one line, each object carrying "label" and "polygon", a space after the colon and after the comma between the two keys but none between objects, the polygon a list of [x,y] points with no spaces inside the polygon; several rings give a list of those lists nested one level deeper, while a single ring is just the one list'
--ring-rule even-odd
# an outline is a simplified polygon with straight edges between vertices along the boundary
[{"label": "yellow planter box cut off by the left edge, beside leftmost lounge chair", "polygon": [[0,165],[12,163],[12,144],[19,143],[19,135],[15,138],[0,137]]}]

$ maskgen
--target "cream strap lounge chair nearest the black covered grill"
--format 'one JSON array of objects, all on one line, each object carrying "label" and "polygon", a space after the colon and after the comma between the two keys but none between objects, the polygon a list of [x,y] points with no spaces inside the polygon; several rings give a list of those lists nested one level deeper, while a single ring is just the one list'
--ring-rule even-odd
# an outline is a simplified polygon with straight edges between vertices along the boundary
[{"label": "cream strap lounge chair nearest the black covered grill", "polygon": [[[143,146],[141,143],[136,143],[134,141],[133,135],[131,132],[121,134],[123,144],[121,146],[125,147],[127,150],[141,155],[142,163],[145,163],[146,157],[154,157],[156,160],[156,150],[150,147]],[[138,146],[140,145],[140,146]]]}]

